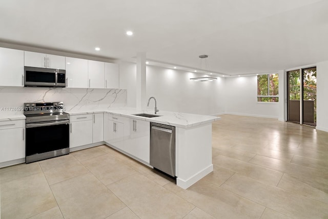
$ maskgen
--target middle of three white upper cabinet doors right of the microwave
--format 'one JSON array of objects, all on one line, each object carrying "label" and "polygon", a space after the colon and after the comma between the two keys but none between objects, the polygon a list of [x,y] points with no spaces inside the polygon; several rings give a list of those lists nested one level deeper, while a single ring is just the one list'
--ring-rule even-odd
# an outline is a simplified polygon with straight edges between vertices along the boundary
[{"label": "middle of three white upper cabinet doors right of the microwave", "polygon": [[88,75],[90,88],[105,88],[105,64],[88,60]]}]

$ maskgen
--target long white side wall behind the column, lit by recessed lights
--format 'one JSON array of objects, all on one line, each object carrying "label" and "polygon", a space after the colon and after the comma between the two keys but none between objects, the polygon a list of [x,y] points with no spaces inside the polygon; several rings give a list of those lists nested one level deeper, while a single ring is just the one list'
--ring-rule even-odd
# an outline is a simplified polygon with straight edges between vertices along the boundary
[{"label": "long white side wall behind the column, lit by recessed lights", "polygon": [[[128,90],[129,107],[136,106],[136,65],[120,63],[120,87]],[[224,78],[213,82],[195,82],[191,77],[204,76],[176,69],[147,66],[146,94],[154,96],[157,108],[204,115],[224,113]],[[151,101],[149,109],[154,109]]]}]

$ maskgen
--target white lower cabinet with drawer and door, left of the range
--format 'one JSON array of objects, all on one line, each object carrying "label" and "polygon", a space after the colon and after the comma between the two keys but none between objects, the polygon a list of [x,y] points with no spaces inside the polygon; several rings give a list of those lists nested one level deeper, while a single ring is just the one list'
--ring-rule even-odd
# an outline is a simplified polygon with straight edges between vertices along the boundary
[{"label": "white lower cabinet with drawer and door, left of the range", "polygon": [[25,120],[0,122],[0,163],[25,158]]}]

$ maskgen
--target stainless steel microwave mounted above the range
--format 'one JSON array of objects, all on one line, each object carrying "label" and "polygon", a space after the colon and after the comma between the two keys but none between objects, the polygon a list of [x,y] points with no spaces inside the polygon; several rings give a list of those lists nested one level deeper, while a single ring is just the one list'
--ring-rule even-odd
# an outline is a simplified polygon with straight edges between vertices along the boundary
[{"label": "stainless steel microwave mounted above the range", "polygon": [[66,87],[66,71],[25,66],[24,87]]}]

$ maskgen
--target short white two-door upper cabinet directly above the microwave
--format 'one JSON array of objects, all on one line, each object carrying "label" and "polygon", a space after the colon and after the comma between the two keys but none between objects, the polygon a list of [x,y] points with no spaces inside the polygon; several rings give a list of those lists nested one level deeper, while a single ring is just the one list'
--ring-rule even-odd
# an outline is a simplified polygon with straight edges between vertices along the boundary
[{"label": "short white two-door upper cabinet directly above the microwave", "polygon": [[65,56],[25,51],[25,66],[65,69]]}]

